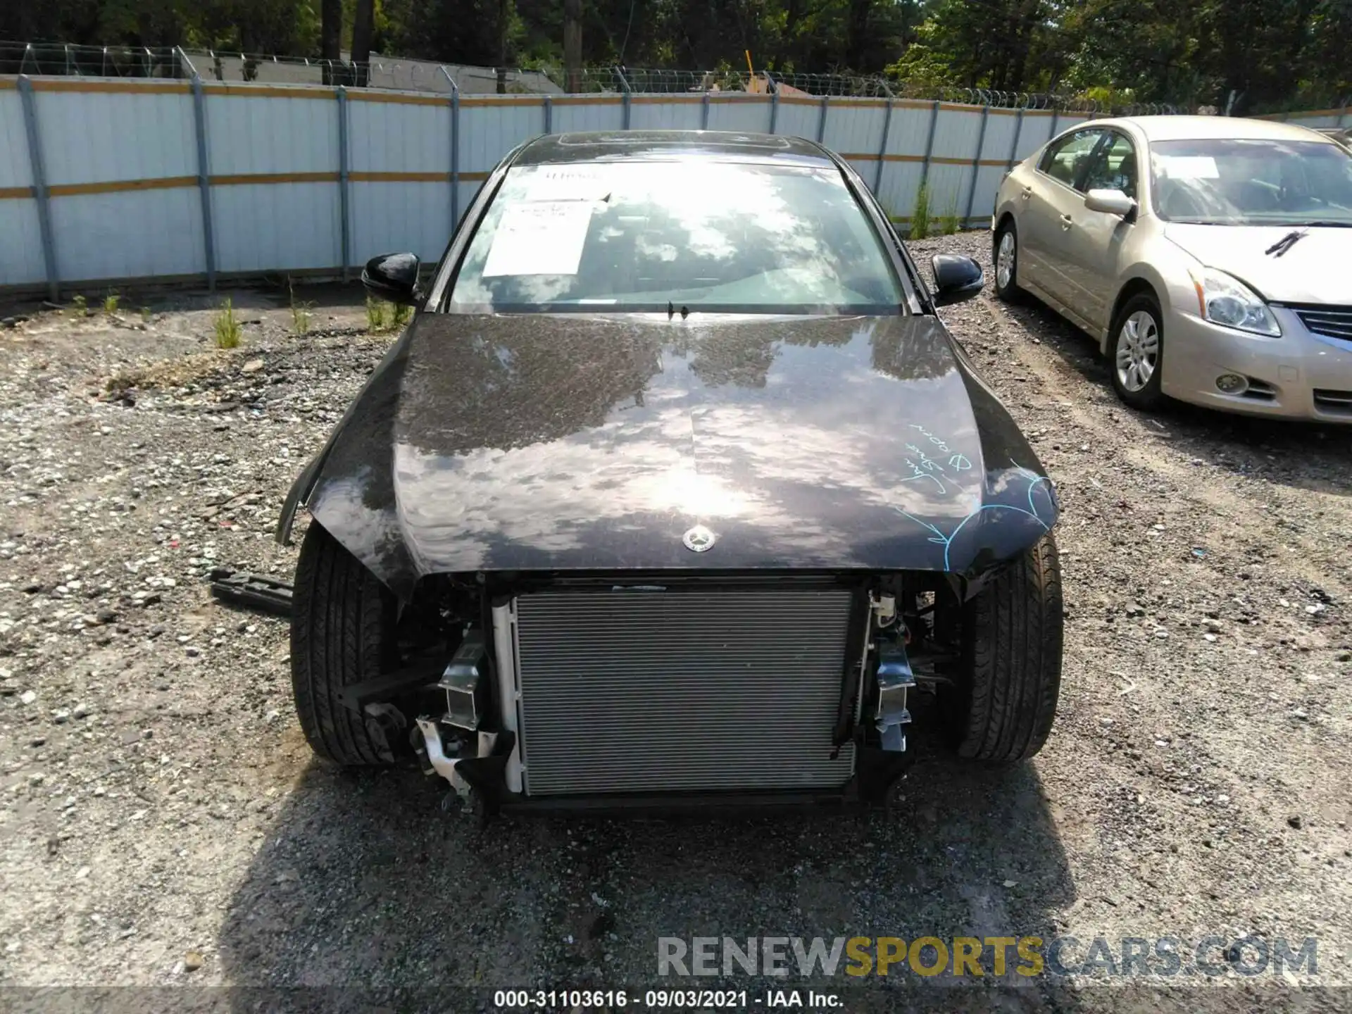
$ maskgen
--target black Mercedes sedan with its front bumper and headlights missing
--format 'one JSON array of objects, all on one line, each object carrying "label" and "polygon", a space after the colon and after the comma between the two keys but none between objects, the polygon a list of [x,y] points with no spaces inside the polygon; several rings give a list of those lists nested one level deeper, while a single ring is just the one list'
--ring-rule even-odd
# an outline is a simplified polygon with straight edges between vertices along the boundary
[{"label": "black Mercedes sedan with its front bumper and headlights missing", "polygon": [[[487,811],[886,802],[909,696],[1018,761],[1061,671],[1057,502],[854,170],[754,134],[508,154],[296,480],[300,725]],[[914,703],[914,702],[911,702]]]}]

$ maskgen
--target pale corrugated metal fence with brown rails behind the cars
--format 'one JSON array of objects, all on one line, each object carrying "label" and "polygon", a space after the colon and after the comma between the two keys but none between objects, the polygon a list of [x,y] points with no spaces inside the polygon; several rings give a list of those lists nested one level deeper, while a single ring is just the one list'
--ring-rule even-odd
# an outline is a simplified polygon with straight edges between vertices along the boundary
[{"label": "pale corrugated metal fence with brown rails behind the cars", "polygon": [[449,95],[220,81],[0,77],[0,288],[265,273],[342,277],[441,256],[499,158],[541,130],[814,138],[900,222],[988,214],[1000,177],[1084,114],[745,92]]}]

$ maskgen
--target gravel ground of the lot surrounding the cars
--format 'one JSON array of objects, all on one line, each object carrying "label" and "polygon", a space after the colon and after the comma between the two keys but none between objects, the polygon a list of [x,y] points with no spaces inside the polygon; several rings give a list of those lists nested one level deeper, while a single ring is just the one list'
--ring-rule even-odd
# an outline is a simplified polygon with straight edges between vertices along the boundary
[{"label": "gravel ground of the lot surrounding the cars", "polygon": [[[990,272],[984,234],[913,249]],[[657,979],[657,937],[767,934],[1317,936],[1318,980],[1352,982],[1352,434],[1142,416],[1049,311],[952,307],[1064,506],[1042,754],[990,771],[922,734],[888,814],[480,829],[438,780],[312,761],[285,623],[207,594],[216,565],[289,575],[281,498],[388,345],[315,299],[297,338],[238,293],[228,353],[184,304],[0,330],[0,984],[642,990],[692,982]],[[1341,1006],[1221,979],[1172,999]],[[1006,982],[1011,1010],[1163,1003]],[[825,984],[863,1010],[936,980]]]}]

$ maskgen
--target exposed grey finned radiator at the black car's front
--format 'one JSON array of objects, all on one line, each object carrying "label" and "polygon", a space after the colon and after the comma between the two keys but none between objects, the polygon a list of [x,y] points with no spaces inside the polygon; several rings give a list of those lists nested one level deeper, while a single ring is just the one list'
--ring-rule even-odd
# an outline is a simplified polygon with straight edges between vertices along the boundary
[{"label": "exposed grey finned radiator at the black car's front", "polygon": [[522,595],[527,795],[844,786],[853,602],[829,585]]}]

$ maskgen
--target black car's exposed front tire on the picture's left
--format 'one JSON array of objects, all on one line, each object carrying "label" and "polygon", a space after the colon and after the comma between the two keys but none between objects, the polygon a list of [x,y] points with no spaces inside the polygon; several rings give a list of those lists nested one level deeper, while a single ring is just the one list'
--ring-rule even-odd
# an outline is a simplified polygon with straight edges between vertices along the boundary
[{"label": "black car's exposed front tire on the picture's left", "polygon": [[291,611],[291,687],[311,749],[343,767],[393,763],[342,688],[397,665],[397,603],[318,522],[300,546]]}]

